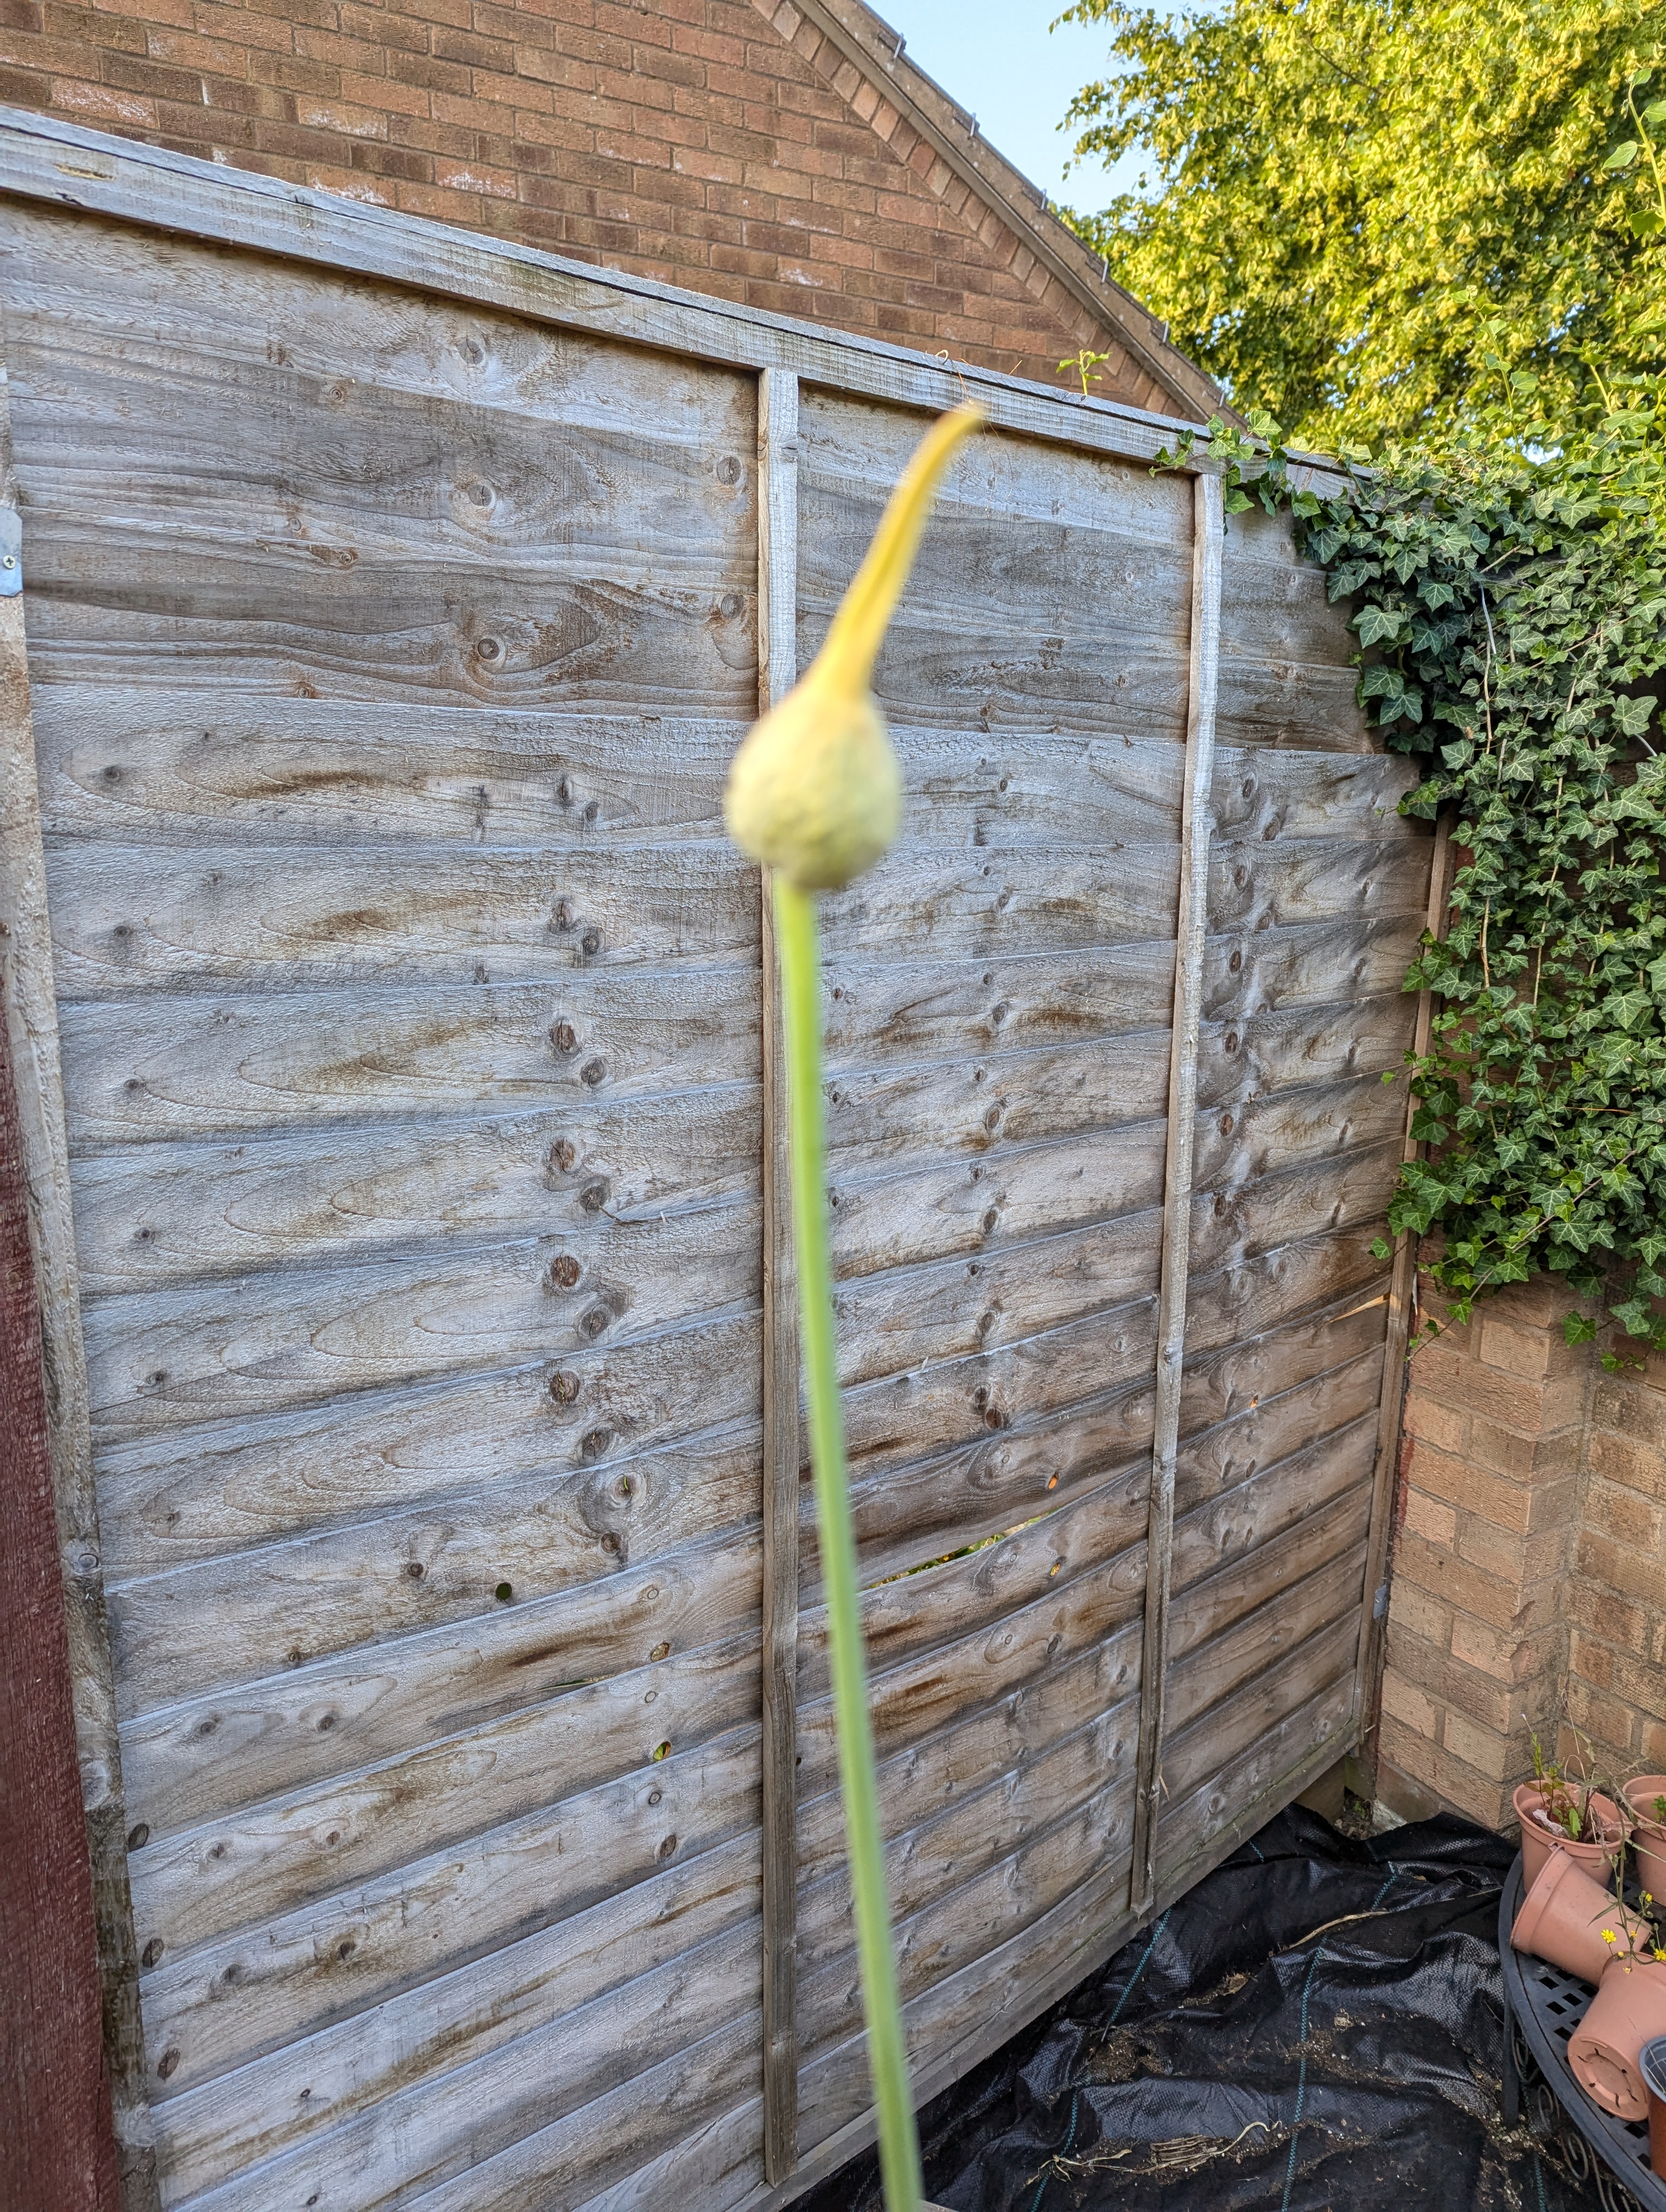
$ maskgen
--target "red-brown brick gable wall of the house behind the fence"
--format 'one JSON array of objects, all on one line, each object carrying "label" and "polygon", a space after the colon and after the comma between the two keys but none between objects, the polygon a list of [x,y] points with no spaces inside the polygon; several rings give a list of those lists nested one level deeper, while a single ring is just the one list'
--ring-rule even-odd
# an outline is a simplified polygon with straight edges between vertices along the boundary
[{"label": "red-brown brick gable wall of the house behind the fence", "polygon": [[[768,9],[768,11],[766,11]],[[0,102],[1173,411],[790,0],[0,0]]]}]

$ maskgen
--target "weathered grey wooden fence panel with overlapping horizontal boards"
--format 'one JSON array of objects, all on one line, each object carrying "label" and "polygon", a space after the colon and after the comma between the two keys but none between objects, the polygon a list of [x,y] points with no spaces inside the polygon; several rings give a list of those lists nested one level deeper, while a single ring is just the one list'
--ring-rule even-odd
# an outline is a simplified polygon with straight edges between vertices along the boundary
[{"label": "weathered grey wooden fence panel with overlapping horizontal boards", "polygon": [[[785,2203],[870,2112],[719,792],[960,376],[22,115],[0,254],[128,2203]],[[825,914],[923,2095],[1358,1736],[1429,883],[1288,526],[965,383]]]}]

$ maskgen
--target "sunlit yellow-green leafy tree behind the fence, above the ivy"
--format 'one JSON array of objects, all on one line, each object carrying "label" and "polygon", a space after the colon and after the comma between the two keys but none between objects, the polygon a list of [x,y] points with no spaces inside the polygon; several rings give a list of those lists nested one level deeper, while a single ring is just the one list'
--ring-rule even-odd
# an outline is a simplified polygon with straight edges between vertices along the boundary
[{"label": "sunlit yellow-green leafy tree behind the fence, above the ivy", "polygon": [[1066,117],[1077,153],[1153,161],[1069,219],[1294,445],[1445,434],[1498,389],[1487,356],[1569,398],[1591,365],[1666,367],[1655,0],[1062,20],[1104,24],[1120,64]]}]

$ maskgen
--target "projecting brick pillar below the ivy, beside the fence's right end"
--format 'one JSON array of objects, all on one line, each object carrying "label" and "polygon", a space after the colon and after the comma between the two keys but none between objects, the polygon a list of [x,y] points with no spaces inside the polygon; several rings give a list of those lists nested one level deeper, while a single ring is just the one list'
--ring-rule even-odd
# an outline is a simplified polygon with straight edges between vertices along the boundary
[{"label": "projecting brick pillar below the ivy, beside the fence's right end", "polygon": [[[1533,1730],[1558,1743],[1597,1374],[1562,1336],[1569,1305],[1560,1283],[1511,1285],[1412,1356],[1376,1776],[1407,1818],[1502,1827]],[[1593,1599],[1597,1619],[1617,1624]]]}]

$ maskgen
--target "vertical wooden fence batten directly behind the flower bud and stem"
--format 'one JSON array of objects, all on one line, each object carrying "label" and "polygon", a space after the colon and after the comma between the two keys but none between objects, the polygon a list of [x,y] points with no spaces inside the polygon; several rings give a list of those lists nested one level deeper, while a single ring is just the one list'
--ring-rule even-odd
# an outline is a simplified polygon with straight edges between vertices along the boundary
[{"label": "vertical wooden fence batten directly behind the flower bud and stem", "polygon": [[[759,376],[759,712],[799,675],[799,378]],[[763,2174],[799,2163],[799,1296],[774,902],[763,969]]]}]

